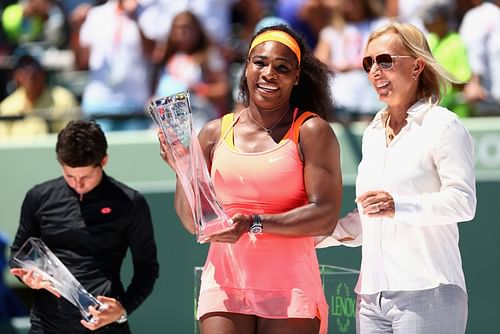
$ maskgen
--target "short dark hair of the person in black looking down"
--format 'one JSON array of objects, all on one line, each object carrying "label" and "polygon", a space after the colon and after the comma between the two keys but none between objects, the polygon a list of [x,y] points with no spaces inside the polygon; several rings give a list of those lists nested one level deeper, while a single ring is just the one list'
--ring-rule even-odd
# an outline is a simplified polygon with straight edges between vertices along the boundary
[{"label": "short dark hair of the person in black looking down", "polygon": [[100,166],[107,149],[106,136],[95,121],[70,121],[57,136],[57,160],[72,168]]}]

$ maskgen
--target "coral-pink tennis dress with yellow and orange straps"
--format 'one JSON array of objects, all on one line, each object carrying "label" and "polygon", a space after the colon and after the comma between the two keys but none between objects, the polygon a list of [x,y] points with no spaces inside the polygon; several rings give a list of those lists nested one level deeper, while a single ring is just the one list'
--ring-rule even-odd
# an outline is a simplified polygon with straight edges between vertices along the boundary
[{"label": "coral-pink tennis dress with yellow and orange straps", "polygon": [[[307,204],[297,142],[300,126],[311,116],[315,114],[300,115],[278,146],[259,153],[234,148],[233,126],[239,117],[224,116],[211,177],[217,198],[230,217],[237,212],[280,213]],[[265,231],[264,225],[264,233],[245,233],[235,244],[210,244],[198,319],[210,312],[272,319],[318,317],[320,333],[326,333],[328,304],[313,238]]]}]

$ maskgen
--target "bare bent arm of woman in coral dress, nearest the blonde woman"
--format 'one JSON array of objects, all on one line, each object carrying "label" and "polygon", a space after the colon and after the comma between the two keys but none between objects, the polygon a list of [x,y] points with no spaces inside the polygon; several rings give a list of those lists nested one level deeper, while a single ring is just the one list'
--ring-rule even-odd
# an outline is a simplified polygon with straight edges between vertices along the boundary
[{"label": "bare bent arm of woman in coral dress, nearest the blonde woman", "polygon": [[262,215],[264,230],[287,236],[331,234],[342,202],[340,148],[330,125],[314,117],[300,130],[304,184],[309,203],[281,214]]}]

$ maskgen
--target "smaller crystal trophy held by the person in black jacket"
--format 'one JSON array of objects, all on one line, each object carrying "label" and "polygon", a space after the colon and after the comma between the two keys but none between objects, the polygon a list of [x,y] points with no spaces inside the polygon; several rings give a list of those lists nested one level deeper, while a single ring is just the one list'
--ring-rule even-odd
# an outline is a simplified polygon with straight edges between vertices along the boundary
[{"label": "smaller crystal trophy held by the person in black jacket", "polygon": [[80,310],[83,319],[87,322],[92,322],[89,306],[106,307],[85,290],[61,260],[39,238],[31,237],[26,240],[14,255],[13,262],[19,268],[32,270],[35,275],[40,275],[44,280],[51,282],[61,296]]}]

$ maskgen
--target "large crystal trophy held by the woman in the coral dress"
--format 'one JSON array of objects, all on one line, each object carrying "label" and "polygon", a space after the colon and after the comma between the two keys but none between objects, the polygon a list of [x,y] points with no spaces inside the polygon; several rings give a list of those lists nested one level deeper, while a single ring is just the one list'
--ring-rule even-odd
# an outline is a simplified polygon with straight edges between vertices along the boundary
[{"label": "large crystal trophy held by the woman in the coral dress", "polygon": [[151,102],[149,114],[162,131],[175,162],[175,171],[186,193],[199,243],[210,235],[232,228],[232,221],[215,196],[208,167],[193,128],[189,92]]}]

